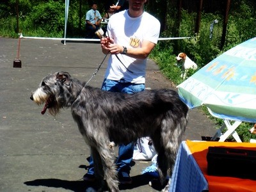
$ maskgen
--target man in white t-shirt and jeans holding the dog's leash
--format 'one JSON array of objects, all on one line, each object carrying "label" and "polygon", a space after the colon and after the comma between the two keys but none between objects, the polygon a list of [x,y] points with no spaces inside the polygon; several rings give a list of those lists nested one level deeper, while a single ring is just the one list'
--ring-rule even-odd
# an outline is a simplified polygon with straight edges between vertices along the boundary
[{"label": "man in white t-shirt and jeans holding the dog's leash", "polygon": [[[129,9],[115,13],[108,22],[108,37],[101,38],[104,54],[111,54],[102,83],[102,90],[135,93],[145,90],[147,57],[157,44],[160,22],[147,12],[147,0],[129,0]],[[132,122],[131,122],[132,123]],[[116,166],[122,184],[131,184],[134,143],[120,145]],[[93,181],[93,159],[90,157],[84,180]]]}]

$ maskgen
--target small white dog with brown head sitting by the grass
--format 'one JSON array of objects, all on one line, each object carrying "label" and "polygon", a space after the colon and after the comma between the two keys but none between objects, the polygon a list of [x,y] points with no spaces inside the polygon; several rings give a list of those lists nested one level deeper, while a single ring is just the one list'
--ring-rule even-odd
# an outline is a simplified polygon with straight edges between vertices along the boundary
[{"label": "small white dog with brown head sitting by the grass", "polygon": [[178,65],[179,63],[181,63],[182,65],[182,74],[181,77],[183,79],[186,78],[186,73],[188,72],[189,68],[192,68],[193,70],[196,70],[197,65],[194,61],[192,61],[185,52],[180,52],[178,54],[178,56],[176,57],[177,61],[178,61]]}]

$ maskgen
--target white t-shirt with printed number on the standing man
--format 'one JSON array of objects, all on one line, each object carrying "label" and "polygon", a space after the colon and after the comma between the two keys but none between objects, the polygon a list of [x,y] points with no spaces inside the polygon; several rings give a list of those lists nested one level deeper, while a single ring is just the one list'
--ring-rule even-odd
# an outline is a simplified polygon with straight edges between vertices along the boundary
[{"label": "white t-shirt with printed number on the standing man", "polygon": [[[160,33],[160,22],[147,12],[143,12],[140,17],[130,17],[128,10],[124,10],[112,15],[108,22],[108,33],[114,39],[115,44],[125,47],[141,47],[143,40],[148,40],[157,44]],[[111,80],[125,79],[131,83],[145,83],[145,70],[147,58],[145,60],[131,58],[125,54],[111,54],[108,60],[108,68],[105,78]],[[129,70],[127,70],[127,68]],[[131,73],[131,72],[132,73]]]}]

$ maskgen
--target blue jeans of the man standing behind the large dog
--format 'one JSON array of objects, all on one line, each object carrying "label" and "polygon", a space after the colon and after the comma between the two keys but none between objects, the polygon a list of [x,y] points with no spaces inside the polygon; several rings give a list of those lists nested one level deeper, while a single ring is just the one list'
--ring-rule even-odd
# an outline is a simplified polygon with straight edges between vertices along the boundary
[{"label": "blue jeans of the man standing behind the large dog", "polygon": [[[102,90],[108,92],[122,92],[122,93],[136,93],[145,90],[145,84],[134,83],[120,83],[109,79],[104,79],[102,83]],[[116,166],[118,172],[130,173],[131,161],[134,150],[134,143],[128,145],[120,145],[118,150],[118,158],[116,159]],[[89,158],[90,165],[88,166],[88,174],[94,174],[93,158]]]}]

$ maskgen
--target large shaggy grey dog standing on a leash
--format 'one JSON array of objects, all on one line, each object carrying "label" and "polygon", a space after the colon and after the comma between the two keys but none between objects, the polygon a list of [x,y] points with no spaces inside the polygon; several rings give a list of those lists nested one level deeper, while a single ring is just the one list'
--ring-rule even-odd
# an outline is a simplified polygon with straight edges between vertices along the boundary
[{"label": "large shaggy grey dog standing on a leash", "polygon": [[[150,136],[158,153],[161,182],[173,168],[182,134],[188,122],[188,107],[174,90],[145,90],[134,94],[105,92],[86,86],[68,72],[44,77],[32,93],[36,104],[44,104],[42,114],[56,115],[71,108],[85,142],[90,145],[95,176],[110,191],[119,191],[113,147]],[[115,144],[114,144],[115,143]],[[100,189],[102,189],[100,188]]]}]

